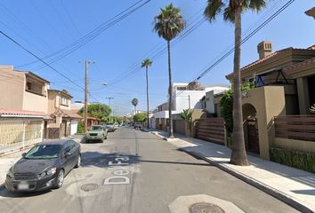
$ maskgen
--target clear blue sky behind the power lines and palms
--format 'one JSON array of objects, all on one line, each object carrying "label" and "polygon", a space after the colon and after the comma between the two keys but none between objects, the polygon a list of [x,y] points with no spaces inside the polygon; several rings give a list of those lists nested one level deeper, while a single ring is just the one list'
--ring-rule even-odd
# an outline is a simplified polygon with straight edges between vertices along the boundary
[{"label": "clear blue sky behind the power lines and palms", "polygon": [[[0,1],[0,29],[16,41],[44,58],[69,43],[97,28],[117,13],[124,11],[137,0],[78,1],[78,0],[2,0]],[[144,2],[144,1],[143,1]],[[192,24],[202,19],[206,0],[172,1],[182,10],[182,16]],[[285,4],[285,0],[269,2],[263,12],[246,12],[242,17],[243,32],[254,29],[266,20],[271,12]],[[159,8],[171,1],[151,0],[137,12],[104,31],[93,41],[86,43],[52,64],[62,74],[84,86],[85,65],[78,60],[95,60],[90,66],[91,101],[108,103],[106,97],[114,97],[112,106],[117,114],[126,114],[133,109],[131,100],[139,99],[139,109],[145,109],[145,72],[140,69],[141,60],[149,51],[163,47],[166,42],[153,32],[153,18]],[[306,48],[315,44],[315,20],[304,12],[314,6],[313,1],[295,1],[275,20],[259,31],[242,46],[241,65],[258,59],[257,43],[271,40],[274,51],[297,47]],[[194,22],[195,21],[195,22]],[[191,26],[191,25],[190,25]],[[250,31],[247,31],[250,32]],[[213,23],[203,22],[190,35],[179,40],[172,48],[173,82],[190,82],[209,67],[222,51],[233,43],[233,25],[224,22],[221,16]],[[232,72],[232,55],[214,67],[200,79],[203,84],[228,83],[225,75]],[[28,64],[36,59],[20,49],[4,36],[0,36],[0,64],[13,65],[18,70],[28,70],[51,82],[52,89],[68,90],[74,100],[84,100],[84,92],[73,83],[41,62]],[[135,67],[135,68],[133,68]],[[127,78],[123,81],[121,76]],[[119,77],[120,76],[120,77]],[[166,101],[167,55],[164,52],[153,60],[149,68],[150,108]],[[109,83],[102,86],[101,83]]]}]

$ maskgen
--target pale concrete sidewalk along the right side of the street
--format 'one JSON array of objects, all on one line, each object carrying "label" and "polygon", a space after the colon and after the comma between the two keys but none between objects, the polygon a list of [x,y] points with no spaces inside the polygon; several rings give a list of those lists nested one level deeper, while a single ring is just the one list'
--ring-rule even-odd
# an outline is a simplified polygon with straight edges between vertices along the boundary
[{"label": "pale concrete sidewalk along the right side of the street", "polygon": [[250,185],[269,193],[302,212],[315,212],[315,175],[275,162],[247,155],[250,166],[230,164],[230,148],[196,138],[166,138],[166,132],[147,130],[177,146],[180,150],[198,156]]}]

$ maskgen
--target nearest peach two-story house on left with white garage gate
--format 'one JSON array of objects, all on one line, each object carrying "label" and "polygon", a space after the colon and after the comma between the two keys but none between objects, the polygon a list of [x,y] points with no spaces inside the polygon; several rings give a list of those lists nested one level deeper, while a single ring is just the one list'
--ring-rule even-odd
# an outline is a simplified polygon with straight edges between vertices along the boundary
[{"label": "nearest peach two-story house on left with white garage gate", "polygon": [[0,153],[43,139],[49,82],[13,66],[0,66]]}]

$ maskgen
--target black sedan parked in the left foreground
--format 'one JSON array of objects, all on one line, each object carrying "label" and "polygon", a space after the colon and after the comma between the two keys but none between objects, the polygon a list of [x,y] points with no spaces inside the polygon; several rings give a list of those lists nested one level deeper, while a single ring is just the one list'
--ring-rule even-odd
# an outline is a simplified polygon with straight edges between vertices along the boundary
[{"label": "black sedan parked in the left foreground", "polygon": [[6,174],[5,187],[12,192],[60,188],[64,177],[81,163],[80,145],[71,139],[38,143]]}]

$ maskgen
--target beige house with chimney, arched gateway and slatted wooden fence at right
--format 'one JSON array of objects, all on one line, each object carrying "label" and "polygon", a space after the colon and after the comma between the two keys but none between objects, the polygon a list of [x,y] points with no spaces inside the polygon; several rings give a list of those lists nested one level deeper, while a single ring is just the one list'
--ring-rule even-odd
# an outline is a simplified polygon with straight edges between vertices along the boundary
[{"label": "beige house with chimney, arched gateway and slatted wooden fence at right", "polygon": [[[246,150],[269,159],[269,147],[315,152],[315,46],[272,52],[272,43],[258,44],[259,59],[242,67]],[[233,74],[227,75],[233,82]],[[296,116],[299,118],[296,119]]]}]

